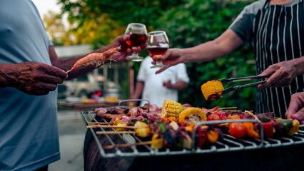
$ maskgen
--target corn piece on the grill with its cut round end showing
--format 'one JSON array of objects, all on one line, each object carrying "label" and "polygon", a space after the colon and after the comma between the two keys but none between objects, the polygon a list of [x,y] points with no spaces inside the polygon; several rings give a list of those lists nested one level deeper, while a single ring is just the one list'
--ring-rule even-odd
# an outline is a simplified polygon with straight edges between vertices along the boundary
[{"label": "corn piece on the grill with its cut round end showing", "polygon": [[201,108],[187,108],[179,114],[180,123],[197,123],[201,120],[207,120],[206,114]]}]

